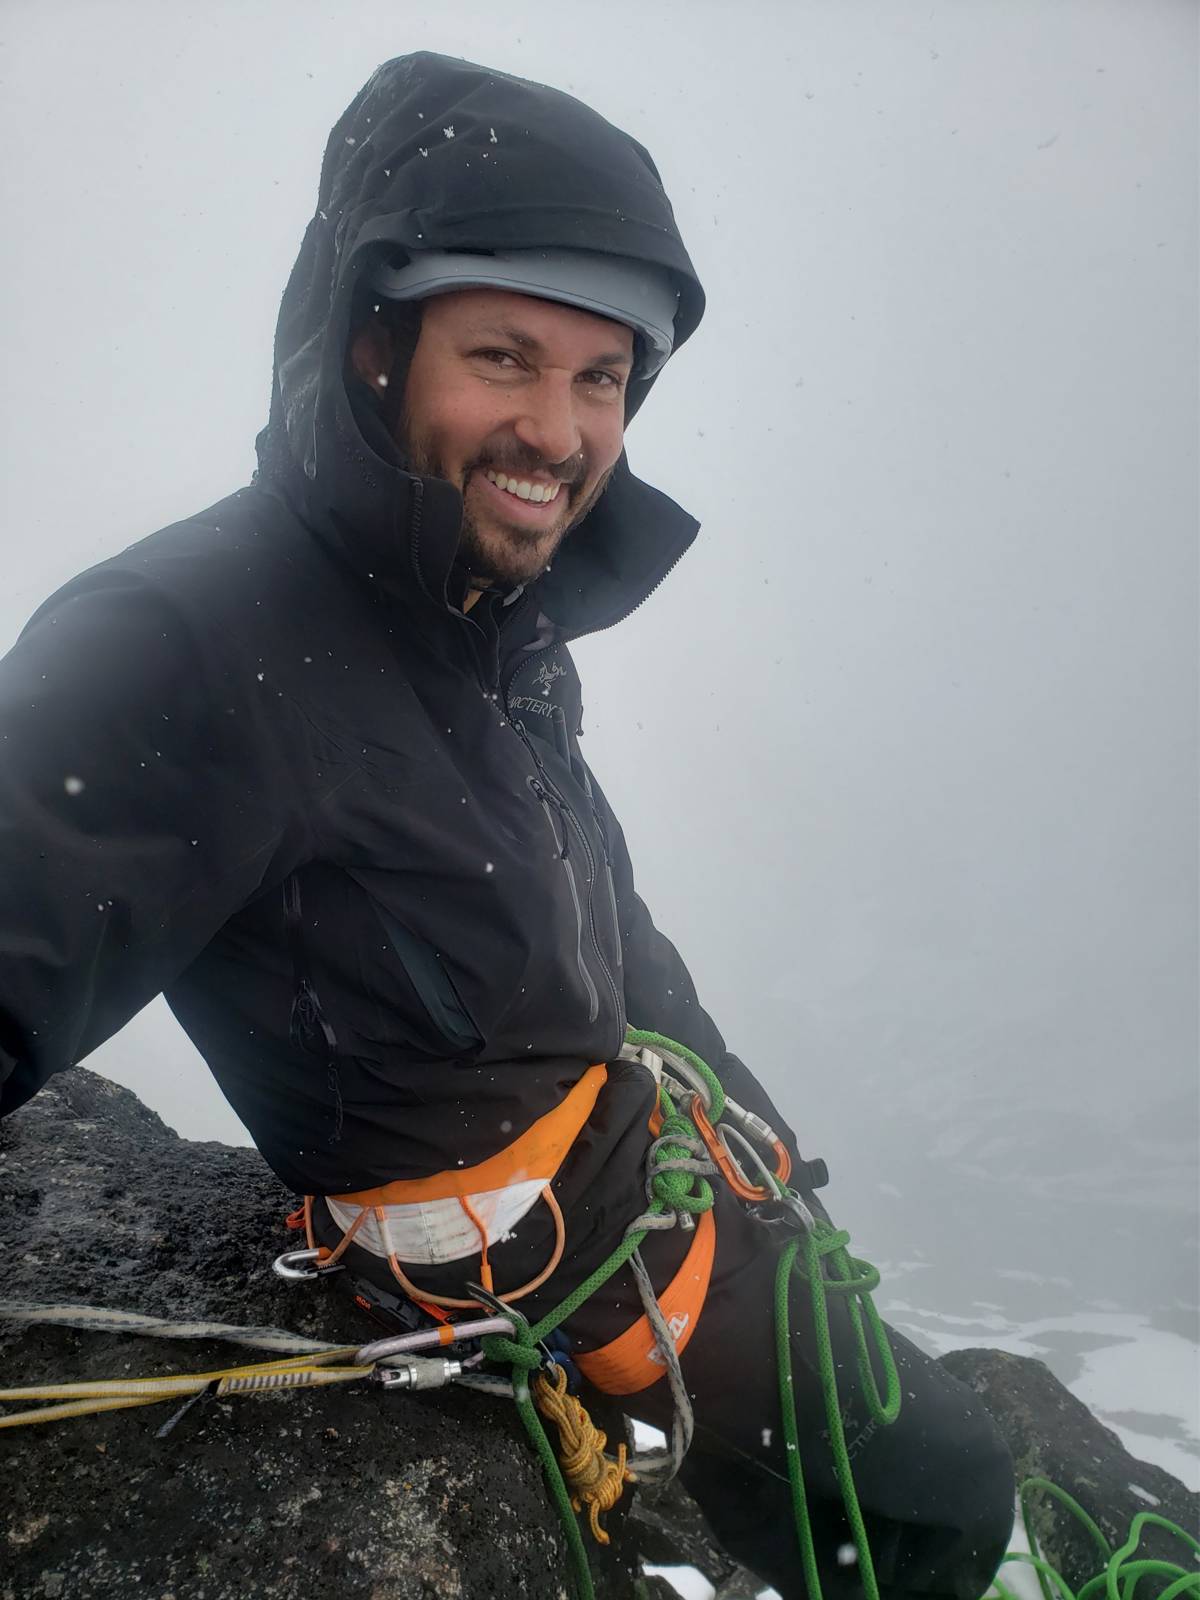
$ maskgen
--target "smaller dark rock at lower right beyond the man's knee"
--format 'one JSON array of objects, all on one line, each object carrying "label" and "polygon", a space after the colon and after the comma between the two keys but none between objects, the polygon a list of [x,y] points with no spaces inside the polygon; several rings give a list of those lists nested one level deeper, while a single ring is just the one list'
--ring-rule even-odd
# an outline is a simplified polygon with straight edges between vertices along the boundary
[{"label": "smaller dark rock at lower right beyond the man's knee", "polygon": [[[1053,1373],[1027,1355],[1002,1350],[954,1350],[942,1366],[976,1390],[1013,1451],[1018,1483],[1050,1478],[1078,1501],[1110,1549],[1120,1549],[1139,1512],[1154,1512],[1200,1538],[1200,1494],[1170,1472],[1131,1456]],[[1038,1493],[1029,1501],[1042,1555],[1072,1590],[1104,1568],[1083,1525],[1059,1501]],[[1189,1566],[1187,1547],[1154,1525],[1144,1528],[1139,1557]],[[1154,1595],[1166,1581],[1147,1576],[1138,1594]]]}]

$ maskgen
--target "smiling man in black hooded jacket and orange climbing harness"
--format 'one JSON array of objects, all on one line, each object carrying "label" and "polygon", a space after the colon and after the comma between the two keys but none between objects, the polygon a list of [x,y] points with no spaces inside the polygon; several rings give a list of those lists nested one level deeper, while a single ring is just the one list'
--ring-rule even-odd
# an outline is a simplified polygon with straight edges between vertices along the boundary
[{"label": "smiling man in black hooded jacket and orange climbing harness", "polygon": [[[570,640],[626,618],[696,534],[622,438],[702,306],[627,134],[467,62],[379,69],[330,139],[254,483],[67,584],[0,669],[0,1109],[165,992],[310,1197],[326,1266],[432,1307],[483,1282],[536,1317],[645,1210],[656,1086],[622,1058],[632,1022],[781,1130],[818,1206],[579,746]],[[685,1480],[731,1554],[798,1595],[779,1238],[723,1184],[714,1216],[707,1301],[675,1318]],[[656,1291],[702,1232],[646,1240]],[[850,1595],[792,1299],[818,1558]],[[594,1379],[638,1314],[621,1272],[570,1318]],[[872,1427],[832,1315],[882,1590],[981,1594],[1011,1525],[1003,1445],[898,1334],[904,1406]],[[658,1371],[608,1387],[666,1426]]]}]

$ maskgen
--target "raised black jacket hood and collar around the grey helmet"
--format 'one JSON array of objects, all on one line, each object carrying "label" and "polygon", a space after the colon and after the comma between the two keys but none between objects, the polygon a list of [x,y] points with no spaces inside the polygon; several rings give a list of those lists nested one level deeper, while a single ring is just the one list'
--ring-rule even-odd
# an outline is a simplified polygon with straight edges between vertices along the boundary
[{"label": "raised black jacket hood and collar around the grey helmet", "polygon": [[[427,51],[386,62],[330,134],[275,330],[259,478],[299,501],[376,582],[397,594],[416,582],[442,605],[462,499],[445,480],[406,472],[366,386],[347,386],[352,314],[379,258],[402,266],[421,250],[504,248],[584,248],[666,269],[680,296],[675,347],[704,312],[670,202],[635,139],[541,83]],[[630,381],[626,421],[653,381]],[[622,454],[538,579],[542,611],[570,635],[611,626],[698,526]]]}]

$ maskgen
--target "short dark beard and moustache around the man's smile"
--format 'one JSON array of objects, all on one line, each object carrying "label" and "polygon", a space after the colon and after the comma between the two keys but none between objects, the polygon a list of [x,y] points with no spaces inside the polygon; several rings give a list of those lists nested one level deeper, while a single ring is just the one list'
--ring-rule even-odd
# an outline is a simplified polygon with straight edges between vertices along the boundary
[{"label": "short dark beard and moustache around the man's smile", "polygon": [[[406,413],[398,418],[397,438],[410,472],[418,474],[418,477],[445,478],[461,490],[462,526],[456,562],[466,568],[472,582],[480,589],[514,589],[517,584],[528,584],[544,573],[566,534],[590,512],[616,470],[616,462],[613,462],[595,486],[586,491],[589,470],[582,454],[571,456],[568,461],[549,462],[526,450],[520,440],[510,438],[498,440],[485,454],[470,461],[462,469],[462,480],[458,483],[446,470],[440,453],[421,437]],[[555,478],[562,483],[558,490],[558,499],[563,501],[562,512],[544,528],[530,528],[509,522],[502,510],[491,506],[485,510],[477,509],[482,494],[477,491],[477,496],[470,496],[472,482],[475,478],[486,482],[483,474],[488,469],[517,478],[534,472]],[[475,506],[470,504],[472,498]]]}]

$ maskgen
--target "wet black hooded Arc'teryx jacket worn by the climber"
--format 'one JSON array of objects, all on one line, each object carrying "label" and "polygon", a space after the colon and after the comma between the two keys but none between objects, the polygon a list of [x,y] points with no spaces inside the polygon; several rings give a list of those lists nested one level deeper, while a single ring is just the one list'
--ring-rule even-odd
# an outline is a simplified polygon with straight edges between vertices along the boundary
[{"label": "wet black hooded Arc'teryx jacket worn by the climber", "polygon": [[[570,640],[696,523],[622,459],[549,574],[462,614],[459,494],[344,378],[365,264],[418,243],[619,251],[675,275],[678,339],[702,310],[650,157],[597,114],[429,54],[371,78],[283,298],[254,483],[74,579],[0,664],[3,1110],[165,992],[296,1190],[494,1154],[627,1022],[778,1125],[578,741]],[[648,1104],[613,1069],[587,1133],[613,1218]]]}]

